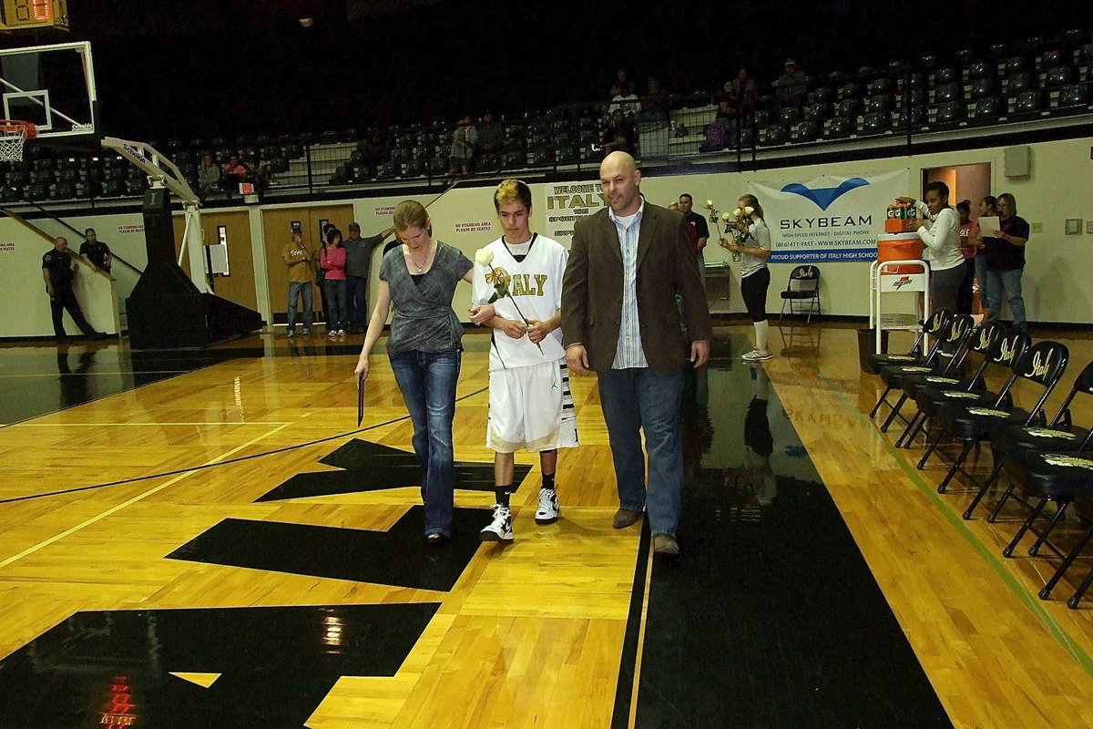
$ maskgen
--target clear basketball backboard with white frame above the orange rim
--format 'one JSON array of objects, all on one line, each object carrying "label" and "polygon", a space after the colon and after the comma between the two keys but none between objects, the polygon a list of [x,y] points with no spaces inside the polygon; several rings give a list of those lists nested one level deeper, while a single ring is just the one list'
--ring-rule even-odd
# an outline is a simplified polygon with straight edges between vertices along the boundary
[{"label": "clear basketball backboard with white frame above the orange rim", "polygon": [[0,50],[0,94],[3,117],[34,124],[39,142],[101,136],[90,43]]}]

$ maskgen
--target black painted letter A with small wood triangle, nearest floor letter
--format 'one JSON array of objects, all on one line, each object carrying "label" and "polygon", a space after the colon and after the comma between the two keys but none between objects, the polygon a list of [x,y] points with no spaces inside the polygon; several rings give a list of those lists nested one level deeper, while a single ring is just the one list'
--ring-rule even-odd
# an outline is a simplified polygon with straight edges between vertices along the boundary
[{"label": "black painted letter A with small wood triangle, nearest floor letter", "polygon": [[80,612],[0,660],[0,727],[303,729],[341,677],[395,675],[438,607]]}]

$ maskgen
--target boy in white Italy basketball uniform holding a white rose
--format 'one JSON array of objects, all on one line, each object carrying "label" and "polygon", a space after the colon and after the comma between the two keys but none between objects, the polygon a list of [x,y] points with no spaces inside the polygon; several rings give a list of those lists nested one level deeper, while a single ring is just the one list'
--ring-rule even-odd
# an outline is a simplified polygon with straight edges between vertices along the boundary
[{"label": "boy in white Italy basketball uniform holding a white rose", "polygon": [[[475,256],[471,319],[494,331],[490,348],[490,418],[486,446],[494,456],[497,503],[482,541],[513,539],[509,493],[515,452],[539,452],[542,487],[536,524],[557,521],[554,484],[557,449],[577,446],[577,421],[569,395],[569,372],[562,348],[562,277],[568,251],[532,233],[531,190],[517,179],[493,196],[504,235]],[[487,262],[486,262],[487,261]],[[483,309],[501,280],[510,295],[498,297],[493,316]],[[483,320],[484,319],[484,320]]]}]

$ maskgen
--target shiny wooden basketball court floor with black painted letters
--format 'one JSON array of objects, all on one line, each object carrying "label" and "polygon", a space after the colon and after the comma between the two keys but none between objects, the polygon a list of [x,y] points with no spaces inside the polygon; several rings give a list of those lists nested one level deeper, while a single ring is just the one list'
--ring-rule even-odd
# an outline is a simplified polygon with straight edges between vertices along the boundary
[{"label": "shiny wooden basketball court floor with black painted letters", "polygon": [[[719,328],[687,381],[678,561],[610,526],[592,377],[573,377],[562,519],[534,525],[521,454],[516,540],[478,543],[480,333],[439,549],[381,356],[356,428],[360,338],[0,348],[0,727],[1093,725],[1093,596],[1066,607],[1093,557],[1039,600],[1055,558],[1000,554],[1019,509],[964,521],[966,484],[937,494],[943,470],[868,419],[854,328],[773,327],[760,367],[749,330]],[[1093,342],[1050,334],[1071,349],[1057,407]]]}]

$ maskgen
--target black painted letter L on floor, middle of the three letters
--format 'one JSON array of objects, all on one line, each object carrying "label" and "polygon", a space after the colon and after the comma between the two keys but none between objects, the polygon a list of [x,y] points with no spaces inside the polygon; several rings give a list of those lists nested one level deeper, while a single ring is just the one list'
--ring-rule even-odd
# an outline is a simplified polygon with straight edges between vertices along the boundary
[{"label": "black painted letter L on floor, middle of the three letters", "polygon": [[455,534],[440,546],[424,543],[423,506],[411,507],[388,531],[224,519],[167,558],[446,592],[478,551],[490,516],[456,507]]}]

